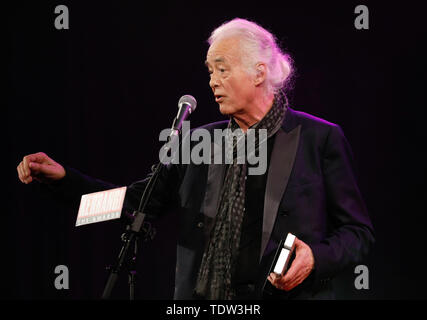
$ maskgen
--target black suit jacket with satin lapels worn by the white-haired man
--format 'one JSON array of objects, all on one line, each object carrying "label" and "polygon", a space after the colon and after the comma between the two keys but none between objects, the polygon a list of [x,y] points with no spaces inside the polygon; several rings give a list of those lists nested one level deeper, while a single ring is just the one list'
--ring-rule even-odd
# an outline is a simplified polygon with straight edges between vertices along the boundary
[{"label": "black suit jacket with satin lapels worn by the white-haired man", "polygon": [[[227,122],[204,128],[224,129]],[[171,165],[163,170],[149,203],[147,213],[152,216],[180,211],[175,299],[192,299],[224,168],[215,164]],[[361,262],[374,242],[354,176],[351,149],[340,127],[288,108],[276,134],[267,174],[257,292],[261,293],[280,239],[292,232],[311,247],[315,269],[295,289],[274,290],[272,297],[332,298],[330,279]],[[147,180],[128,187],[128,210],[138,207]],[[53,189],[77,197],[112,187],[67,168],[66,178]]]}]

